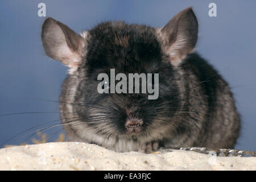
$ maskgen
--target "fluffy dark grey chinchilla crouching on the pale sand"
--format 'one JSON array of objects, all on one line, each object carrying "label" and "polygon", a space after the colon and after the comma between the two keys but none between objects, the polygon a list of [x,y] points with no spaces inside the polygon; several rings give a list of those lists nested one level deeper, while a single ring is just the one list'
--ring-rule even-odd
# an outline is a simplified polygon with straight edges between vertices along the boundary
[{"label": "fluffy dark grey chinchilla crouching on the pale sand", "polygon": [[[162,28],[116,21],[76,34],[47,18],[42,27],[44,50],[69,67],[60,96],[68,140],[118,152],[233,148],[240,115],[228,83],[193,52],[197,33],[191,7]],[[110,69],[127,77],[158,74],[158,98],[148,99],[149,93],[99,93],[98,75],[109,76]],[[105,84],[104,89],[110,89],[109,82]]]}]

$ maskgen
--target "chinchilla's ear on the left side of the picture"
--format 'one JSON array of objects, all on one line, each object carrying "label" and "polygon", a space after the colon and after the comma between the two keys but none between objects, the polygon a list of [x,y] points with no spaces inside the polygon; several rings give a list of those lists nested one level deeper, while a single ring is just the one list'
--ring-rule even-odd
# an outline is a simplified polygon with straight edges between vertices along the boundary
[{"label": "chinchilla's ear on the left side of the picture", "polygon": [[65,24],[47,18],[42,27],[44,50],[52,59],[67,65],[72,74],[82,59],[87,33],[78,35]]}]

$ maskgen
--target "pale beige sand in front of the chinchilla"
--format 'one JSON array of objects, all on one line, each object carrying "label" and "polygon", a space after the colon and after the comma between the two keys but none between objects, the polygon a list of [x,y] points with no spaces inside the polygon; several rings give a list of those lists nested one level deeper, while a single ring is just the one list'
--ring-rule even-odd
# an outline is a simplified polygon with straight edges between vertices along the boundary
[{"label": "pale beige sand in front of the chinchilla", "polygon": [[256,157],[119,153],[96,144],[55,142],[0,149],[0,170],[256,170]]}]

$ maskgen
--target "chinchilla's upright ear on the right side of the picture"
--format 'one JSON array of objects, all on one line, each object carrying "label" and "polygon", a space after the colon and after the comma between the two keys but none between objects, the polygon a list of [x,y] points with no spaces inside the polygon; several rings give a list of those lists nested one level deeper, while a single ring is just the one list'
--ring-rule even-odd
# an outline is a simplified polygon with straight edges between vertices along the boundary
[{"label": "chinchilla's upright ear on the right side of the picture", "polygon": [[191,7],[176,14],[158,31],[163,50],[171,58],[172,65],[179,65],[196,45],[198,24]]}]

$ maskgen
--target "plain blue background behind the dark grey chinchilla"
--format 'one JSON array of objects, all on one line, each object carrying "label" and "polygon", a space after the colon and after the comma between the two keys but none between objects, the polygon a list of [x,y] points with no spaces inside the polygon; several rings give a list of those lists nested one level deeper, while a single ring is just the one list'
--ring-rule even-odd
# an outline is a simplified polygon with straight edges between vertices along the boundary
[{"label": "plain blue background behind the dark grey chinchilla", "polygon": [[[0,116],[0,144],[26,131],[56,125],[61,83],[67,67],[44,53],[40,32],[44,17],[38,3],[46,3],[47,16],[76,32],[104,20],[162,27],[179,11],[193,6],[199,21],[196,50],[224,76],[232,87],[242,117],[236,148],[256,151],[256,1],[1,1],[0,3],[0,114],[56,112]],[[217,4],[217,17],[209,17],[208,5]],[[44,125],[42,125],[44,124]],[[44,131],[50,141],[61,127]],[[19,144],[22,133],[5,144]],[[30,140],[26,141],[30,143]]]}]

